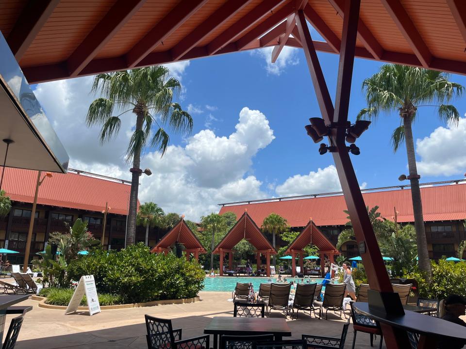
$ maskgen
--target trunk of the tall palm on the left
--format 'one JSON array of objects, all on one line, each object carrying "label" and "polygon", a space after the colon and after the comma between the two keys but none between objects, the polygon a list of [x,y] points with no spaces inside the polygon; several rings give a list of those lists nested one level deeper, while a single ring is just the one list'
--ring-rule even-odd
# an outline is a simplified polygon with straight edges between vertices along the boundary
[{"label": "trunk of the tall palm on the left", "polygon": [[[144,114],[139,112],[136,114],[136,130],[142,130],[144,122]],[[141,149],[134,151],[133,171],[131,177],[130,191],[130,208],[128,211],[128,226],[126,227],[126,246],[134,245],[136,238],[136,213],[137,213],[137,193],[139,190],[139,166],[141,165]],[[125,247],[126,247],[125,246]]]}]

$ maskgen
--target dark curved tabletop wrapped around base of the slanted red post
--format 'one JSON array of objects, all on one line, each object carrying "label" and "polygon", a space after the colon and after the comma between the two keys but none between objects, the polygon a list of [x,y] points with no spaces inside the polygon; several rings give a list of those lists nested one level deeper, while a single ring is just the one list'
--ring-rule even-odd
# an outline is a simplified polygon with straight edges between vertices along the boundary
[{"label": "dark curved tabletop wrapped around base of the slanted red post", "polygon": [[353,306],[364,315],[381,323],[419,333],[421,337],[418,348],[436,348],[439,337],[464,339],[466,342],[466,331],[463,326],[438,317],[425,316],[409,310],[405,310],[404,315],[387,315],[374,308],[369,308],[369,304],[366,302],[355,302]]}]

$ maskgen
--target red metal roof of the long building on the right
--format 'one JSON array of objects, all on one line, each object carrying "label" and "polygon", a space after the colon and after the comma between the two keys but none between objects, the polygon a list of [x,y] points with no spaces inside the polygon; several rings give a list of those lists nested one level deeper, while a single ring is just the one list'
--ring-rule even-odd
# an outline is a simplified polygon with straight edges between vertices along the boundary
[{"label": "red metal roof of the long building on the right", "polygon": [[[379,206],[379,212],[387,219],[392,219],[396,207],[399,222],[414,222],[409,189],[363,193],[363,197],[366,206]],[[421,198],[424,221],[466,219],[465,184],[421,188]],[[248,209],[251,219],[258,225],[270,213],[279,214],[294,227],[305,226],[310,219],[317,226],[343,225],[348,222],[347,214],[343,212],[347,206],[342,195],[224,206],[220,214],[231,211],[239,215],[245,209]]]}]

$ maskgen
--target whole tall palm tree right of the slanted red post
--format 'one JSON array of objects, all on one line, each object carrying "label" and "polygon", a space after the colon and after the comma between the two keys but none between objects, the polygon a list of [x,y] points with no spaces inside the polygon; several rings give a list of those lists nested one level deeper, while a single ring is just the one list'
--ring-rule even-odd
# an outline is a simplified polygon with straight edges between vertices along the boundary
[{"label": "whole tall palm tree right of the slanted red post", "polygon": [[453,105],[445,103],[462,95],[464,87],[449,81],[447,73],[384,64],[377,74],[363,81],[363,90],[366,90],[367,108],[359,112],[358,119],[375,120],[381,111],[397,113],[400,117],[400,126],[392,134],[392,144],[395,152],[403,142],[406,144],[419,269],[430,280],[431,266],[422,216],[412,123],[416,119],[418,108],[434,107],[440,120],[457,124],[459,112]]}]

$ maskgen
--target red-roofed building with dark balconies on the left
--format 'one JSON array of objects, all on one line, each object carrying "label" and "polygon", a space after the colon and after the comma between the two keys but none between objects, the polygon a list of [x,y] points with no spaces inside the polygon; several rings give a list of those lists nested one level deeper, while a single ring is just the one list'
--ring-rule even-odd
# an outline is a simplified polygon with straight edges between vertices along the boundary
[{"label": "red-roofed building with dark balconies on the left", "polygon": [[[101,238],[103,213],[108,203],[104,246],[120,249],[124,246],[126,216],[131,182],[68,169],[67,174],[53,173],[39,187],[37,209],[31,244],[31,259],[45,248],[50,232],[66,232],[64,222],[73,223],[81,218],[95,238]],[[2,168],[0,168],[0,175]],[[45,173],[43,173],[45,174]],[[26,238],[31,217],[37,181],[37,171],[7,167],[2,189],[12,200],[10,214],[0,218],[0,248],[19,254],[8,255],[12,264],[24,259]],[[136,241],[144,241],[145,228],[138,227]],[[158,231],[151,231],[150,236]],[[156,238],[155,238],[156,239]],[[150,244],[155,244],[155,239]]]}]

